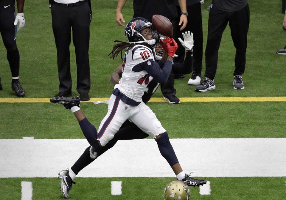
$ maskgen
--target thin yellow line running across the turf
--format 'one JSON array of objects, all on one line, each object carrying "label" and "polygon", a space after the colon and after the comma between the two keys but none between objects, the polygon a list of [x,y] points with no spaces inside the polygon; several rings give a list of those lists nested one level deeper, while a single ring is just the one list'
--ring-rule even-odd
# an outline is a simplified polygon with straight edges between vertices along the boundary
[{"label": "thin yellow line running across the turf", "polygon": [[[109,98],[91,98],[87,102],[104,101]],[[48,103],[50,98],[0,98],[0,103]],[[180,97],[181,102],[261,102],[286,101],[286,97]],[[153,97],[149,102],[166,102],[161,97]]]}]

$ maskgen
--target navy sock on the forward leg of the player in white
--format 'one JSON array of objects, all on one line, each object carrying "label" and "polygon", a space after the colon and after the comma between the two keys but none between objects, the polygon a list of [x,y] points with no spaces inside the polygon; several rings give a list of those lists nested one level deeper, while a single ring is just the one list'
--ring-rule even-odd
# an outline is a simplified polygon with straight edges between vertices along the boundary
[{"label": "navy sock on the forward leg of the player in white", "polygon": [[161,155],[167,160],[170,166],[179,163],[167,132],[163,133],[158,139],[156,139],[156,142]]}]

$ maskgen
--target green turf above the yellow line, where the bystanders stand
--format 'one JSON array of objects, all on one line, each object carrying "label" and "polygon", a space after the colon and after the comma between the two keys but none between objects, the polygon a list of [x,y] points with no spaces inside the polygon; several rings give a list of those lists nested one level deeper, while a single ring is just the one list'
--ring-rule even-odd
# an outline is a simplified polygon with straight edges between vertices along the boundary
[{"label": "green turf above the yellow line, where the bystanders stand", "polygon": [[[133,15],[131,0],[127,1],[122,13],[128,22]],[[208,13],[210,5],[206,0],[202,7],[204,48],[207,40]],[[109,76],[121,63],[108,58],[114,45],[113,39],[126,41],[124,28],[115,22],[117,0],[99,0],[92,2],[92,21],[90,26],[90,68],[91,97],[109,97],[113,86]],[[285,74],[285,56],[276,54],[277,49],[285,45],[285,31],[281,25],[284,15],[281,13],[280,1],[251,0],[250,26],[246,68],[243,80],[245,89],[232,88],[235,48],[231,40],[230,28],[227,26],[219,49],[219,59],[215,83],[217,88],[206,93],[195,92],[195,86],[187,85],[190,75],[183,80],[175,81],[178,97],[228,97],[228,96],[286,96],[281,81]],[[45,0],[25,2],[25,27],[17,33],[17,44],[20,51],[20,80],[26,90],[26,97],[52,97],[58,92],[57,56],[52,32],[51,10]],[[263,13],[263,15],[261,15]],[[1,39],[0,39],[1,40]],[[0,42],[2,43],[2,42]],[[0,97],[15,97],[11,90],[11,73],[6,59],[4,45],[0,45],[0,76],[3,91]],[[72,92],[76,92],[76,65],[74,46],[70,46]],[[203,71],[204,73],[204,58]],[[154,97],[162,97],[160,91]]]}]

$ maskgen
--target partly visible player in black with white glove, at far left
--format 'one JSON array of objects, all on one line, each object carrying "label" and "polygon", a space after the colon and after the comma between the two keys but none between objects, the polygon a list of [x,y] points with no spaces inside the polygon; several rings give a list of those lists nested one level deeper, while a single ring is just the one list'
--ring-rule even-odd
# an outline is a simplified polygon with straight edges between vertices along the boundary
[{"label": "partly visible player in black with white glove, at far left", "polygon": [[[24,97],[26,94],[19,81],[20,54],[16,44],[17,23],[19,22],[18,30],[25,25],[24,1],[17,0],[17,15],[15,14],[15,0],[0,1],[0,32],[12,74],[12,90],[18,97]],[[0,90],[2,90],[1,78]]]}]

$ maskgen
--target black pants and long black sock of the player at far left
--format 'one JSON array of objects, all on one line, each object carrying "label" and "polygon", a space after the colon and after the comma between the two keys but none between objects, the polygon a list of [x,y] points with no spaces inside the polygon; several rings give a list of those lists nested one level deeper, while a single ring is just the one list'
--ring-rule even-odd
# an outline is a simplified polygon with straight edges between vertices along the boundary
[{"label": "black pants and long black sock of the player at far left", "polygon": [[[6,8],[5,8],[6,7]],[[20,54],[16,44],[15,5],[0,7],[0,33],[7,49],[7,59],[12,77],[19,76]]]}]

